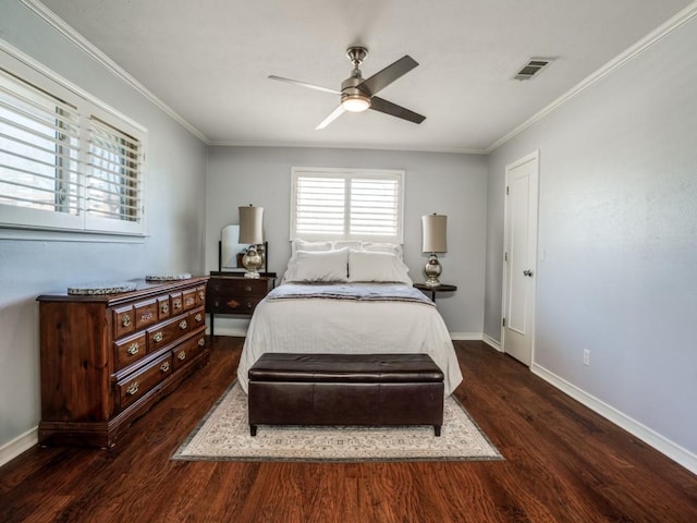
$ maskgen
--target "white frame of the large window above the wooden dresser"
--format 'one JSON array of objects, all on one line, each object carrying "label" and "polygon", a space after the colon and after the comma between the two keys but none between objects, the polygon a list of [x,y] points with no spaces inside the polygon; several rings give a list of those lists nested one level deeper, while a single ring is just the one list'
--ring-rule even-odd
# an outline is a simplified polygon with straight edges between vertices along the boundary
[{"label": "white frame of the large window above the wooden dresser", "polygon": [[[0,238],[103,241],[108,238],[123,236],[123,240],[127,241],[129,236],[138,239],[146,236],[147,130],[2,40],[0,40],[0,74],[7,74],[20,84],[26,84],[29,89],[42,92],[47,97],[75,108],[78,114],[78,151],[75,158],[77,171],[76,214],[61,211],[58,199],[54,203],[54,209],[0,203]],[[103,122],[132,137],[137,144],[136,204],[133,206],[136,209],[135,220],[130,221],[127,218],[123,218],[123,215],[117,218],[100,218],[90,212],[88,208],[86,196],[87,183],[91,175],[89,166],[91,120]],[[60,147],[57,138],[56,167],[53,169],[57,184],[62,180],[59,167]],[[12,179],[10,178],[10,180]],[[58,195],[58,193],[57,187],[56,194]],[[99,235],[105,238],[98,238]],[[115,239],[115,241],[123,240]]]}]

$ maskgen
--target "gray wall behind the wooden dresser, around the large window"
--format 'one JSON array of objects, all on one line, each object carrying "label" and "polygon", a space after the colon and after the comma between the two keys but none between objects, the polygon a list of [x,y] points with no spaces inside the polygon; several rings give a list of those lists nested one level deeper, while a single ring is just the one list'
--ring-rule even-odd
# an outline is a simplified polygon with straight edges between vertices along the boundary
[{"label": "gray wall behind the wooden dresser, around the large window", "polygon": [[39,422],[37,295],[146,273],[204,271],[206,147],[20,2],[0,3],[0,38],[146,126],[149,141],[145,241],[0,239],[2,450]]}]

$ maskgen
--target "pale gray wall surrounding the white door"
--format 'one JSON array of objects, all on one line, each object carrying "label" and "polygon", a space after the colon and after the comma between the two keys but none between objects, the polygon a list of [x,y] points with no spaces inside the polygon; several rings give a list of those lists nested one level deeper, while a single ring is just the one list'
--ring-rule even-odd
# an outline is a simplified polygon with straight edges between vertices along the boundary
[{"label": "pale gray wall surrounding the white door", "polygon": [[693,459],[695,49],[693,17],[489,155],[485,300],[485,332],[500,340],[505,166],[539,149],[534,366]]}]

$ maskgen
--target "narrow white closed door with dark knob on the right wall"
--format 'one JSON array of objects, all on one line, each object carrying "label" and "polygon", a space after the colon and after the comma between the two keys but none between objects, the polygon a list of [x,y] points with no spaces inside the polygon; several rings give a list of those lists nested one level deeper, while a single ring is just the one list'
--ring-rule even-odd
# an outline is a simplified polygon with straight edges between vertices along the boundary
[{"label": "narrow white closed door with dark knob on the right wall", "polygon": [[539,155],[505,169],[503,351],[526,365],[533,361]]}]

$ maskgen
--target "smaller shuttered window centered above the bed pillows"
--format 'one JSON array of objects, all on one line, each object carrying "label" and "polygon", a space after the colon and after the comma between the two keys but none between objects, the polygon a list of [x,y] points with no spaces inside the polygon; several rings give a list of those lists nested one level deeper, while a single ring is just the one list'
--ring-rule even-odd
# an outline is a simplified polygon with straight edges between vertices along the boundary
[{"label": "smaller shuttered window centered above the bed pillows", "polygon": [[402,243],[404,171],[293,168],[291,240]]}]

